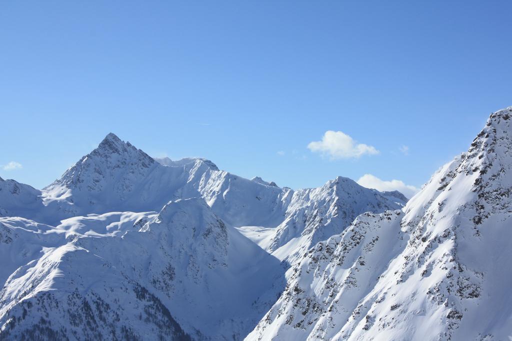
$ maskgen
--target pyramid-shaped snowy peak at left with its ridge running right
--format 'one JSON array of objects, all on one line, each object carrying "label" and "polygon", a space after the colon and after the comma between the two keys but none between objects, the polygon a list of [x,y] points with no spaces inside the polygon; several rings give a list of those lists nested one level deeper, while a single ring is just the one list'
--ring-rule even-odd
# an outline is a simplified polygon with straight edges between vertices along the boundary
[{"label": "pyramid-shaped snowy peak at left with its ridge running right", "polygon": [[158,160],[108,134],[61,178],[32,195],[51,213],[40,221],[58,224],[90,213],[158,211],[169,200],[198,196],[231,225],[278,225],[282,220],[289,190],[220,171],[202,158]]}]

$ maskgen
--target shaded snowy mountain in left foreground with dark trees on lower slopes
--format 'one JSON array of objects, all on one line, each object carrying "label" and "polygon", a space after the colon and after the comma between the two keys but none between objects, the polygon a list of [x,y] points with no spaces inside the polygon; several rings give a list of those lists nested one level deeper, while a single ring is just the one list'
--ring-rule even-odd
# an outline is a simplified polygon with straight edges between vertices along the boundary
[{"label": "shaded snowy mountain in left foreground with dark trees on lower slopes", "polygon": [[[14,257],[0,291],[8,338],[240,339],[284,286],[280,262],[201,198],[54,228],[2,218],[1,236],[2,256]],[[26,255],[15,253],[23,248]]]}]

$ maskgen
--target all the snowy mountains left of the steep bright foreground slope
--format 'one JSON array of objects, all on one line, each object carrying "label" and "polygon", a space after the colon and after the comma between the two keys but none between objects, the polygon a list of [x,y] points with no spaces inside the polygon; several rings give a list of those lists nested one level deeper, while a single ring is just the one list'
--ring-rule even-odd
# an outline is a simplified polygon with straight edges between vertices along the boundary
[{"label": "all the snowy mountains left of the steep bright foreground slope", "polygon": [[155,161],[108,134],[42,190],[0,180],[0,336],[242,339],[299,251],[276,258],[237,228],[306,249],[395,201],[349,179],[293,191],[202,158]]}]

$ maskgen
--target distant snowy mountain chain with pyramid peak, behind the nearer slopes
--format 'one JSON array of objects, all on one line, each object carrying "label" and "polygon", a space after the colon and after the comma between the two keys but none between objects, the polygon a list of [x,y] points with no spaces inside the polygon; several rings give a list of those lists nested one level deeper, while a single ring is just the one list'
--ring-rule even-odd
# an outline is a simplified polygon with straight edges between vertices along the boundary
[{"label": "distant snowy mountain chain with pyramid peak, behind the nearer slopes", "polygon": [[[169,200],[202,197],[229,225],[279,230],[266,247],[275,251],[292,239],[296,243],[301,234],[305,240],[300,244],[308,248],[331,231],[342,231],[360,213],[396,209],[406,201],[341,177],[321,188],[293,191],[260,177],[249,180],[221,171],[202,158],[157,160],[110,133],[42,191],[14,180],[0,182],[10,184],[0,191],[5,193],[0,196],[5,212],[0,214],[58,225],[74,216],[158,211]],[[316,224],[330,227],[319,229]],[[287,254],[282,249],[280,255]]]}]

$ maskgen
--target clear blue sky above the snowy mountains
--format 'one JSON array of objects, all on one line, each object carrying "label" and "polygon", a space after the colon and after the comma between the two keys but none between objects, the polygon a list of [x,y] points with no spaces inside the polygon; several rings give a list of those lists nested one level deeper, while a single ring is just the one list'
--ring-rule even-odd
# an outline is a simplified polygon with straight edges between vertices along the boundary
[{"label": "clear blue sky above the snowy mountains", "polygon": [[[44,187],[112,131],[153,156],[203,156],[281,186],[372,174],[420,187],[512,105],[511,12],[2,2],[0,176]],[[327,131],[343,135],[310,144]]]}]

